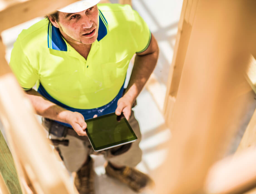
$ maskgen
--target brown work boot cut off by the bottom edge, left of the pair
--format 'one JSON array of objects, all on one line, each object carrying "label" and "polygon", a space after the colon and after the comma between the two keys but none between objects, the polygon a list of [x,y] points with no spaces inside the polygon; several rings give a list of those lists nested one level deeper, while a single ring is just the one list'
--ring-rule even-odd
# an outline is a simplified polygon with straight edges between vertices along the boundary
[{"label": "brown work boot cut off by the bottom edge, left of the pair", "polygon": [[93,160],[88,156],[85,164],[83,164],[75,175],[75,186],[80,194],[95,194],[94,177]]}]

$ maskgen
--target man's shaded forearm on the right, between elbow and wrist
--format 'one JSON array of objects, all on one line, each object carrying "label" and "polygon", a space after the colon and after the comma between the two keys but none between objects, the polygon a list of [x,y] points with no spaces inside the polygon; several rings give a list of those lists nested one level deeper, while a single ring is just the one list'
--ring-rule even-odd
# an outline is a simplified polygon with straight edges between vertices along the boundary
[{"label": "man's shaded forearm on the right, between elbow and wrist", "polygon": [[125,95],[134,102],[153,72],[158,58],[158,50],[147,55],[136,55],[131,78]]}]

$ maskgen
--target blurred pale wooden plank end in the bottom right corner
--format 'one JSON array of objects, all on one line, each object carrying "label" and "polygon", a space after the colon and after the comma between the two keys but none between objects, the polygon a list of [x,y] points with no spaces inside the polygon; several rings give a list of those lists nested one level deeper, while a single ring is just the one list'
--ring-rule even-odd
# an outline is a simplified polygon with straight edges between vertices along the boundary
[{"label": "blurred pale wooden plank end in the bottom right corner", "polygon": [[205,193],[244,194],[254,193],[256,187],[256,151],[243,150],[216,162],[206,178]]}]

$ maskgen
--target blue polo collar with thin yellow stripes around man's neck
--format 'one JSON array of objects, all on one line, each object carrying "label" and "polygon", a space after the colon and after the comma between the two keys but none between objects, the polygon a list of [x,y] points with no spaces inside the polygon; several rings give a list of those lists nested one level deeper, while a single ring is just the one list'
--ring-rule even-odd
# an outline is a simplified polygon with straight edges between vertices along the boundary
[{"label": "blue polo collar with thin yellow stripes around man's neck", "polygon": [[[108,22],[99,10],[99,31],[97,40],[100,41],[107,35]],[[67,44],[62,38],[60,30],[53,25],[51,22],[48,24],[48,48],[60,51],[67,51]]]}]

